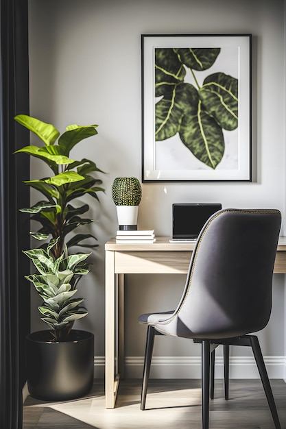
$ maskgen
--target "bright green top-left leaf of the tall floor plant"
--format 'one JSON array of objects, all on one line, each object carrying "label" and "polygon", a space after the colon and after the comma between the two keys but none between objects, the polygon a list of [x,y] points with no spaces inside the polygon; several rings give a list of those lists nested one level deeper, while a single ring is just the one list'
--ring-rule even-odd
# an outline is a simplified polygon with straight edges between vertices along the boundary
[{"label": "bright green top-left leaf of the tall floor plant", "polygon": [[40,121],[40,119],[29,117],[27,114],[18,114],[14,119],[40,137],[45,145],[53,145],[60,135],[60,132],[50,123],[45,123]]}]

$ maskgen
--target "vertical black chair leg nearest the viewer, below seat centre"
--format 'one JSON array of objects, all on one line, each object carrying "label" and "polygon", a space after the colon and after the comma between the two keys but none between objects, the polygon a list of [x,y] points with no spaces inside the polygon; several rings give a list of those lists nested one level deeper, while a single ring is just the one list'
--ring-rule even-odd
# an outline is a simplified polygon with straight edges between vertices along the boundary
[{"label": "vertical black chair leg nearest the viewer, below seat centre", "polygon": [[210,354],[210,341],[202,340],[202,429],[208,429],[210,401]]}]

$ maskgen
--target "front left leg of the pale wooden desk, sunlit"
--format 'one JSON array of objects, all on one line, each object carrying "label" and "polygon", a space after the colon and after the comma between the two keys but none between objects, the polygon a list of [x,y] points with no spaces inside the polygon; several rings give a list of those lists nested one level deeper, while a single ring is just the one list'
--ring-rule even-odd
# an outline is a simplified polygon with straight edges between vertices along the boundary
[{"label": "front left leg of the pale wooden desk, sunlit", "polygon": [[[115,255],[106,251],[106,350],[105,392],[106,408],[115,408],[117,386],[115,386]],[[118,384],[118,382],[117,382]]]}]

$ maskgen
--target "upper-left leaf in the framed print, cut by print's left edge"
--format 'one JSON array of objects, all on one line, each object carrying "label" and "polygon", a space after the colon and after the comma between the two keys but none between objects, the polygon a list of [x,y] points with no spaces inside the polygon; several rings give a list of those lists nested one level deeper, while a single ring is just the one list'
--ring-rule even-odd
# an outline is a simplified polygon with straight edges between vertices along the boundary
[{"label": "upper-left leaf in the framed print, cut by print's left edge", "polygon": [[165,95],[184,80],[186,71],[171,48],[155,49],[155,96]]}]

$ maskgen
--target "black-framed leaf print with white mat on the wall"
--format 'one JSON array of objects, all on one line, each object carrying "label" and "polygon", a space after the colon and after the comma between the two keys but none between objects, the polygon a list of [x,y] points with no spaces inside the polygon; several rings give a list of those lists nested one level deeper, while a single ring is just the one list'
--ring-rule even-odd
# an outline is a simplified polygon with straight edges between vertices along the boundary
[{"label": "black-framed leaf print with white mat on the wall", "polygon": [[251,182],[251,34],[141,47],[142,181]]}]

